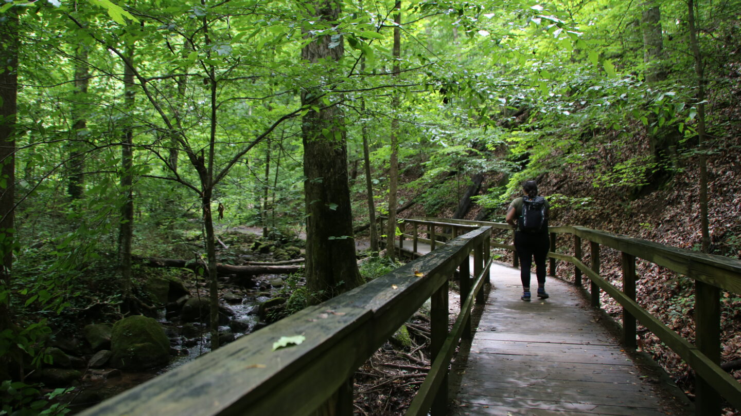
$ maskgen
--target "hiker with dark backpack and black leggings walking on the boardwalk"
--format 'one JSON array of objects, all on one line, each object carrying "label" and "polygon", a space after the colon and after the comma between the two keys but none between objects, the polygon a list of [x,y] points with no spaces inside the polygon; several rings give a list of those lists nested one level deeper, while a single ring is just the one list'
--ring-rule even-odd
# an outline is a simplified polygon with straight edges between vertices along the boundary
[{"label": "hiker with dark backpack and black leggings walking on the boardwalk", "polygon": [[514,229],[514,247],[517,250],[522,279],[523,301],[530,301],[530,266],[535,258],[538,278],[538,298],[548,299],[545,292],[545,258],[548,256],[548,201],[538,195],[536,181],[522,184],[523,194],[515,198],[507,209],[507,224]]}]

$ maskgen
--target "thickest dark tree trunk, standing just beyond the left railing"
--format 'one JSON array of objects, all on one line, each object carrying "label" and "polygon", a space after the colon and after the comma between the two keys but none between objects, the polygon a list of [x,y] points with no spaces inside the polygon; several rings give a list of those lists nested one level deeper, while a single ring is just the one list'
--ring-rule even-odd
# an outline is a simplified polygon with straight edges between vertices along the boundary
[{"label": "thickest dark tree trunk, standing just beyond the left railing", "polygon": [[[314,3],[322,21],[333,24],[339,18],[339,3]],[[307,34],[307,36],[310,36]],[[313,38],[302,49],[302,58],[312,65],[339,61],[344,39],[330,47],[332,36]],[[323,70],[328,77],[331,70]],[[304,145],[304,189],[306,198],[306,282],[310,302],[319,303],[362,284],[355,261],[353,218],[348,185],[348,155],[342,110],[325,106],[318,89],[302,93],[304,106],[320,107],[302,119]],[[322,108],[323,107],[323,108]]]}]

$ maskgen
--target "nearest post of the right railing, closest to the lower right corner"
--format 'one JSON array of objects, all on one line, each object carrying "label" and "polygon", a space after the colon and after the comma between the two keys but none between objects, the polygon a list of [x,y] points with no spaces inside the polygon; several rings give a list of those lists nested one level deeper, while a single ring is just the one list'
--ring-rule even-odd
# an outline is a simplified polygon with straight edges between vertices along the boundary
[{"label": "nearest post of the right railing, closest to the lower right corner", "polygon": [[[695,344],[720,365],[720,289],[695,281]],[[708,382],[695,378],[695,415],[720,415],[720,395]]]}]

